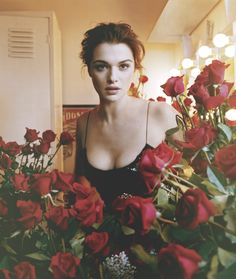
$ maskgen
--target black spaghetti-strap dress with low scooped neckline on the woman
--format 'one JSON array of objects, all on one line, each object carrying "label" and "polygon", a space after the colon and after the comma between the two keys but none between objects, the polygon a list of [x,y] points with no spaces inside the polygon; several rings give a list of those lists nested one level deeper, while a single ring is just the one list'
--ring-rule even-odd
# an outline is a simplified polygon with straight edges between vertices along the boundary
[{"label": "black spaghetti-strap dress with low scooped neckline on the woman", "polygon": [[[146,119],[146,140],[147,140],[147,123],[148,123],[148,110],[147,105],[147,119]],[[92,166],[87,158],[86,138],[88,131],[90,112],[87,118],[86,133],[85,133],[85,147],[80,150],[77,158],[78,175],[84,175],[99,192],[101,198],[106,206],[110,206],[112,201],[124,193],[146,196],[147,187],[144,183],[142,176],[138,171],[138,163],[145,149],[152,148],[147,143],[142,151],[136,156],[134,161],[127,166],[115,168],[111,170],[101,170]]]}]

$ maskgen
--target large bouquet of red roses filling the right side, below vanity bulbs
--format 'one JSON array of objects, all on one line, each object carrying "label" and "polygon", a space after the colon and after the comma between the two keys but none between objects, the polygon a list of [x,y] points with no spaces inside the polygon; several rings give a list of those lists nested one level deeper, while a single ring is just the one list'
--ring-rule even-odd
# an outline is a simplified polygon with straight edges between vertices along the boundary
[{"label": "large bouquet of red roses filling the right side, below vanity bulbs", "polygon": [[[224,80],[227,66],[214,60],[187,90],[183,76],[161,86],[179,111],[178,127],[139,166],[158,211],[161,278],[235,276],[236,122],[227,114],[236,119],[236,92]],[[183,140],[173,140],[179,129]]]}]

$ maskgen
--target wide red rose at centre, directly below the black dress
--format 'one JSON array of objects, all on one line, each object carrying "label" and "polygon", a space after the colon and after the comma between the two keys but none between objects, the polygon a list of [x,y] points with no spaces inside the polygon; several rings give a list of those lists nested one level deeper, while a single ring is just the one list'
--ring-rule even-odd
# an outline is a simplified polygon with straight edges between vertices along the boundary
[{"label": "wide red rose at centre, directly below the black dress", "polygon": [[121,214],[121,223],[146,234],[156,218],[156,209],[151,198],[139,196],[117,197],[112,208]]}]

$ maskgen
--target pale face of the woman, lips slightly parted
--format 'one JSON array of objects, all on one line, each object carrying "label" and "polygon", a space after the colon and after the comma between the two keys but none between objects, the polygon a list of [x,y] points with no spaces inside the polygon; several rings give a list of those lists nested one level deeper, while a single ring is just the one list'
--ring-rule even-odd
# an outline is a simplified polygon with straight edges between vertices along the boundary
[{"label": "pale face of the woman, lips slightly parted", "polygon": [[101,43],[89,67],[100,100],[116,101],[127,95],[134,74],[134,57],[124,43]]}]

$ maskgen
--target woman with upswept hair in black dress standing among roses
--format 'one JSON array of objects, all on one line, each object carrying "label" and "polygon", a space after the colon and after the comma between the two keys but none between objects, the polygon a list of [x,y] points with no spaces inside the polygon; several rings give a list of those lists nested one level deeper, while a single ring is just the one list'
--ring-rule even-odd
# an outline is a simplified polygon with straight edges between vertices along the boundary
[{"label": "woman with upswept hair in black dress standing among roses", "polygon": [[176,111],[168,104],[128,96],[144,54],[124,23],[99,24],[82,41],[81,58],[100,103],[78,119],[75,172],[87,177],[107,206],[122,194],[145,196],[138,172],[142,151],[156,147],[176,126]]}]

